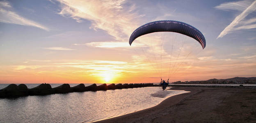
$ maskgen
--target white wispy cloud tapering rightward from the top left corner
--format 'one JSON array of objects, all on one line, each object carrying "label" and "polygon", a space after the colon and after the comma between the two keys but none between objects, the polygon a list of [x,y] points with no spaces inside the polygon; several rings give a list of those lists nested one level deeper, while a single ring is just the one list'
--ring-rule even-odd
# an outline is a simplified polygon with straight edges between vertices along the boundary
[{"label": "white wispy cloud tapering rightward from the top left corner", "polygon": [[31,21],[27,18],[23,18],[22,16],[16,14],[16,12],[11,11],[11,5],[9,2],[1,1],[0,2],[0,22],[2,23],[13,23],[18,25],[25,25],[25,26],[32,26],[37,27],[42,30],[49,31],[50,29],[48,27],[45,27],[39,23],[36,23],[34,21]]}]

